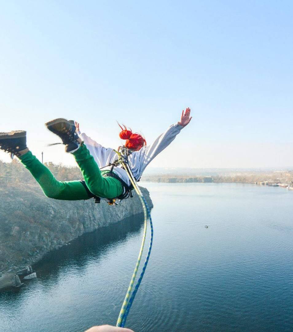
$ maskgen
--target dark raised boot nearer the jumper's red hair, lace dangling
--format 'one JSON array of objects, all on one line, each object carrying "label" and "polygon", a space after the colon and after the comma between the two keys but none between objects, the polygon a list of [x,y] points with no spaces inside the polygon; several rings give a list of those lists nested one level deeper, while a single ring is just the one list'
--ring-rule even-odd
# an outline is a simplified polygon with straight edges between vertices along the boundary
[{"label": "dark raised boot nearer the jumper's red hair, lace dangling", "polygon": [[78,134],[75,132],[74,121],[55,119],[45,123],[46,127],[62,139],[65,151],[72,152],[79,147]]}]

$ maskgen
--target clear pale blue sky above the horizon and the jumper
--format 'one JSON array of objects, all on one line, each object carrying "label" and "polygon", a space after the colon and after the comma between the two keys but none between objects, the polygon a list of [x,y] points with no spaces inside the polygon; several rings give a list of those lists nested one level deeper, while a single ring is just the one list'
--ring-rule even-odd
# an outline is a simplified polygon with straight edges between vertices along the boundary
[{"label": "clear pale blue sky above the horizon and the jumper", "polygon": [[117,147],[115,120],[150,143],[189,106],[151,166],[293,166],[292,17],[292,1],[2,1],[0,131],[73,165],[44,122]]}]

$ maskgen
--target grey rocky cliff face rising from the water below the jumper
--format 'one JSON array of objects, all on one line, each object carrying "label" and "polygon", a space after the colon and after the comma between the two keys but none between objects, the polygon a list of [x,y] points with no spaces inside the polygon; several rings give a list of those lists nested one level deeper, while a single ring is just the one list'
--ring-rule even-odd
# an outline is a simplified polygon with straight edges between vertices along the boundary
[{"label": "grey rocky cliff face rising from the water below the jumper", "polygon": [[[152,208],[149,192],[141,188]],[[142,212],[139,198],[109,206],[101,201],[58,201],[43,196],[38,186],[0,188],[0,275],[32,265],[49,251],[99,227]]]}]

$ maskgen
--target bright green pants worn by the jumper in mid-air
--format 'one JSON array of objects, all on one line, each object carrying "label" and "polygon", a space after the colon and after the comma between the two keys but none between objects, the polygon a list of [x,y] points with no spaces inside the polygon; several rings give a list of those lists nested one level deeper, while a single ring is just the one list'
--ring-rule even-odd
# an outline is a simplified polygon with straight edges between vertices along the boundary
[{"label": "bright green pants worn by the jumper in mid-air", "polygon": [[[84,177],[86,187],[92,194],[109,199],[122,194],[120,181],[113,177],[103,177],[103,174],[109,171],[101,172],[94,157],[83,143],[72,154]],[[87,200],[92,197],[81,181],[57,181],[31,151],[22,155],[20,160],[37,180],[45,196],[69,201]]]}]

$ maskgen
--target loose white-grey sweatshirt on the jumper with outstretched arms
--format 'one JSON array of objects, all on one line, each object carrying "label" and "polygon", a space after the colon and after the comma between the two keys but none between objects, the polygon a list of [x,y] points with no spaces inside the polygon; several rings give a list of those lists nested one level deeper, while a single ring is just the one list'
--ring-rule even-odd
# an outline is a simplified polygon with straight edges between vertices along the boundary
[{"label": "loose white-grey sweatshirt on the jumper with outstretched arms", "polygon": [[[131,167],[132,173],[135,179],[138,181],[147,167],[147,165],[161,152],[163,151],[180,133],[183,128],[180,124],[172,124],[164,133],[162,133],[152,145],[143,146],[140,150],[132,152],[128,156],[129,166]],[[77,132],[79,137],[84,141],[86,147],[90,151],[90,154],[94,157],[99,168],[103,170],[111,169],[112,166],[109,164],[114,163],[118,157],[117,153],[112,148],[105,148],[101,144],[97,143],[85,133]],[[105,167],[108,166],[108,167]],[[128,185],[130,180],[127,173],[119,165],[114,166],[113,171]]]}]

